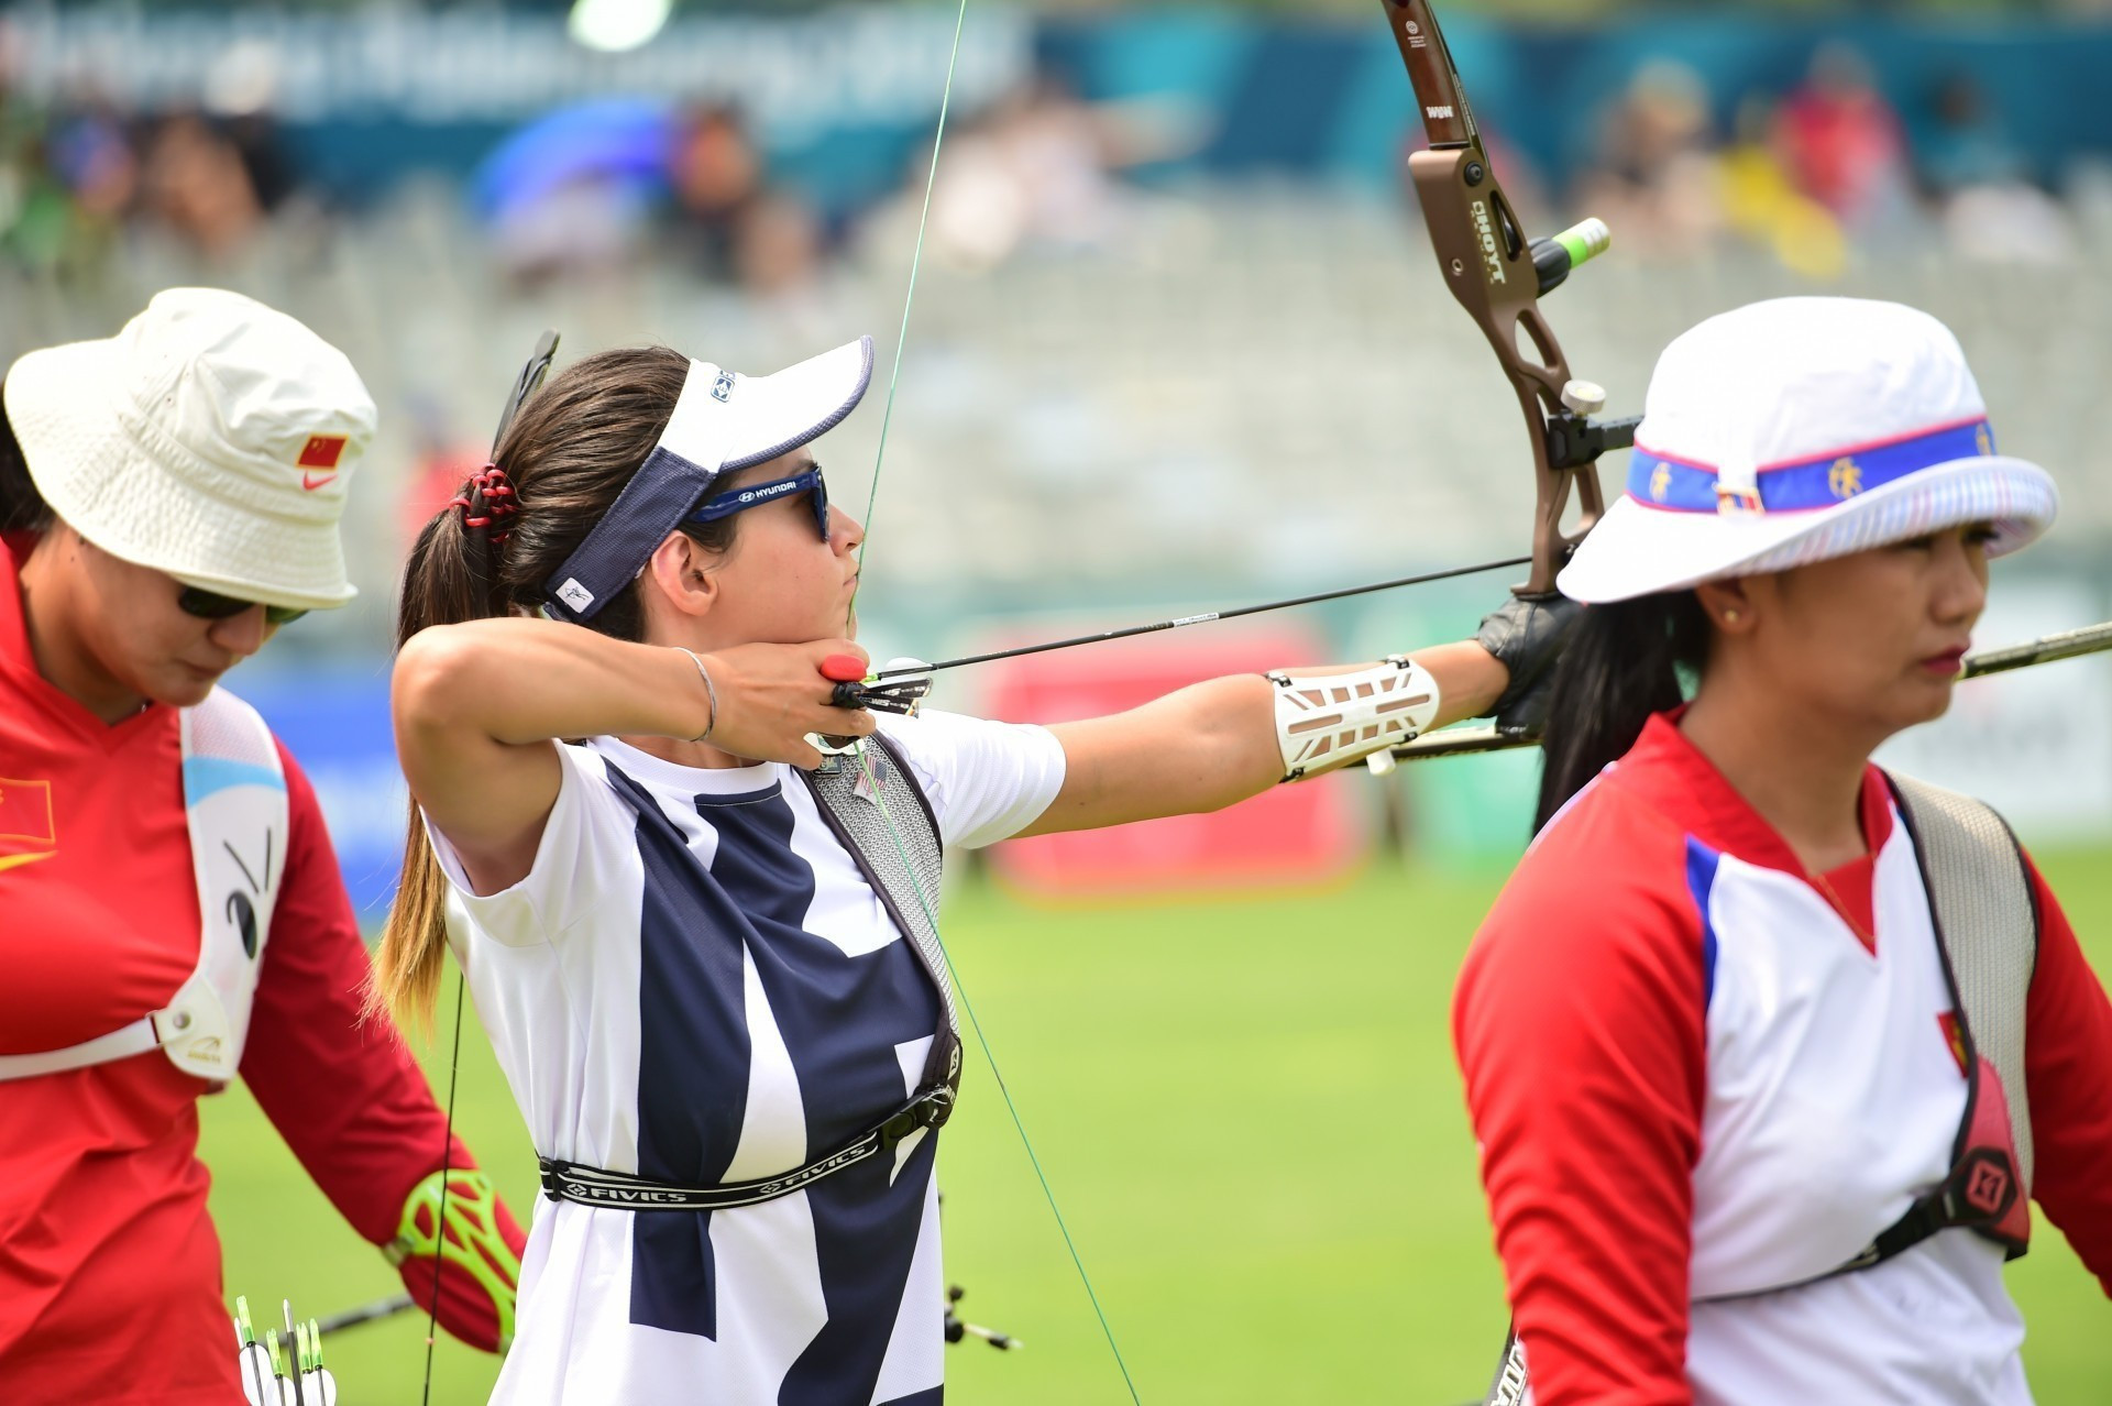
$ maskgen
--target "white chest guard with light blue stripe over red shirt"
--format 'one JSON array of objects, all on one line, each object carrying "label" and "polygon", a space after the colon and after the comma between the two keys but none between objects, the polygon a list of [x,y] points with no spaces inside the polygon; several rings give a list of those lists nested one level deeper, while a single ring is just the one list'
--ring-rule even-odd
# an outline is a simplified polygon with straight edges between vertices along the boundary
[{"label": "white chest guard with light blue stripe over red shirt", "polygon": [[243,1062],[279,880],[287,796],[279,745],[253,707],[213,688],[180,714],[184,821],[199,885],[199,965],[169,1005],[68,1049],[0,1056],[0,1079],[161,1049],[186,1075],[226,1083]]}]

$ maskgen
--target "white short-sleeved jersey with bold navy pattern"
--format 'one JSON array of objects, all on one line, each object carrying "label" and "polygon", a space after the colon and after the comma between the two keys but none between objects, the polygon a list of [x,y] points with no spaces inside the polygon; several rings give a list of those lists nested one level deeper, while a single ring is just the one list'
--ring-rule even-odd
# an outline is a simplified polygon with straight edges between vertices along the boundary
[{"label": "white short-sleeved jersey with bold navy pattern", "polygon": [[[948,844],[1029,825],[1064,756],[1035,726],[881,718]],[[558,749],[534,868],[475,895],[433,834],[450,944],[539,1153],[682,1184],[788,1172],[917,1087],[942,1013],[790,766]],[[727,1212],[541,1197],[492,1402],[940,1400],[934,1136]]]}]

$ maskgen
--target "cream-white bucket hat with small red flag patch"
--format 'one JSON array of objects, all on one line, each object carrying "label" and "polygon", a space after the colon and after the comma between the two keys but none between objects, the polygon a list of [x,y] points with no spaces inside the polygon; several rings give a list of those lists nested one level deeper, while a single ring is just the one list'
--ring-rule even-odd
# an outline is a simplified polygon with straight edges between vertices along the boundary
[{"label": "cream-white bucket hat with small red flag patch", "polygon": [[211,287],[101,342],[27,353],[6,416],[38,494],[110,555],[266,606],[342,606],[338,517],[374,439],[344,353]]}]

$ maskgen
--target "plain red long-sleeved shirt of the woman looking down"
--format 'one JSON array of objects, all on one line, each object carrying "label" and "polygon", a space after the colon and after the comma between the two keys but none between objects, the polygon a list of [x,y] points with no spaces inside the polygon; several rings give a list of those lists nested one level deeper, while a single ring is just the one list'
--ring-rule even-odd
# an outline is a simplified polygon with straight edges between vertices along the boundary
[{"label": "plain red long-sleeved shirt of the woman looking down", "polygon": [[[4,545],[0,572],[0,1053],[30,1053],[165,1007],[196,965],[199,891],[175,709],[106,726],[44,682]],[[367,954],[315,790],[281,760],[289,847],[241,1072],[378,1246],[439,1170],[444,1117],[393,1028],[359,1020]],[[8,1406],[241,1400],[199,1161],[207,1091],[161,1051],[0,1081]],[[452,1165],[469,1165],[460,1142]]]}]

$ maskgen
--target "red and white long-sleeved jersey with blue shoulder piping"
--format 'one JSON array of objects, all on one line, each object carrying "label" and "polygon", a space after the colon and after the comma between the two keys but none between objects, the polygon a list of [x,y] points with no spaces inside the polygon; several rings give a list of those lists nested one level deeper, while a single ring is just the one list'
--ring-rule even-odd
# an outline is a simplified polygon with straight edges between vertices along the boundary
[{"label": "red and white long-sleeved jersey with blue shoulder piping", "polygon": [[[1825,1275],[1949,1170],[1951,1001],[1909,836],[1810,876],[1656,718],[1527,853],[1455,1001],[1540,1406],[2028,1402],[2002,1250]],[[2034,1197],[2112,1286],[2112,1005],[2032,872]]]}]

